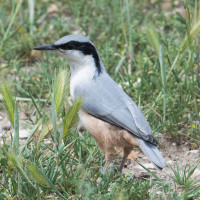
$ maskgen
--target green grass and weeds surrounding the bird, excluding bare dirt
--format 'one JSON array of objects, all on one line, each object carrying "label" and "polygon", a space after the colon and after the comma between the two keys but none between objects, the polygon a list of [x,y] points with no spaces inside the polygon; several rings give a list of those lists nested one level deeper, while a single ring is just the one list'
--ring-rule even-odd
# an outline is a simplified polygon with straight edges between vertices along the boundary
[{"label": "green grass and weeds surrounding the bird, excluding bare dirt", "polygon": [[[6,83],[11,88],[17,97],[19,118],[24,113],[23,123],[35,130],[31,133],[35,134],[41,119],[45,118],[46,129],[54,128],[54,136],[50,135],[55,142],[51,147],[42,142],[48,132],[45,130],[41,131],[39,145],[37,140],[29,138],[21,153],[24,160],[39,166],[37,169],[33,163],[24,162],[19,152],[8,153],[12,152],[10,146],[15,146],[17,138],[14,145],[7,144],[4,138],[4,150],[0,151],[4,182],[1,198],[56,199],[57,194],[61,199],[62,195],[79,199],[131,199],[134,195],[139,195],[137,199],[156,199],[147,190],[153,187],[149,181],[133,184],[130,177],[123,176],[112,183],[116,177],[108,175],[101,184],[96,184],[99,176],[96,168],[103,160],[87,133],[82,138],[78,134],[69,135],[67,142],[64,141],[66,148],[61,141],[56,144],[57,110],[51,113],[49,108],[50,104],[56,107],[57,100],[51,101],[50,96],[59,88],[53,85],[55,74],[59,74],[59,68],[68,66],[58,55],[34,51],[33,47],[54,43],[69,34],[89,37],[108,73],[143,111],[155,137],[158,132],[172,137],[184,135],[199,145],[199,6],[198,1],[191,0],[0,0],[0,87],[7,91],[7,86],[3,86]],[[5,99],[5,94],[2,89],[0,101]],[[13,107],[14,118],[18,119],[16,113]],[[62,115],[60,111],[59,115]],[[51,117],[54,125],[48,124]],[[16,134],[18,126],[14,122],[13,128]],[[71,131],[70,127],[66,129]],[[54,149],[56,145],[58,149]],[[67,148],[70,150],[66,153]],[[17,172],[13,174],[14,169]],[[36,178],[31,178],[31,172]],[[38,180],[43,180],[43,186],[39,187]],[[35,185],[31,185],[33,182]],[[167,185],[168,199],[189,199],[197,195],[195,192],[189,195],[188,189],[179,198],[169,183],[161,185],[164,189]],[[123,192],[119,194],[120,189]]]}]

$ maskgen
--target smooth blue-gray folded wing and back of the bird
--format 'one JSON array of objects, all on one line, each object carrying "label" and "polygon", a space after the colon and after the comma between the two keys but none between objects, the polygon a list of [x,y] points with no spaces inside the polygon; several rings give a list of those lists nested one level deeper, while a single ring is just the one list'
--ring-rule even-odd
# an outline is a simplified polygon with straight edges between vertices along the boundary
[{"label": "smooth blue-gray folded wing and back of the bird", "polygon": [[79,96],[82,97],[84,111],[156,145],[151,127],[142,112],[107,73],[87,85],[77,87],[75,97]]}]

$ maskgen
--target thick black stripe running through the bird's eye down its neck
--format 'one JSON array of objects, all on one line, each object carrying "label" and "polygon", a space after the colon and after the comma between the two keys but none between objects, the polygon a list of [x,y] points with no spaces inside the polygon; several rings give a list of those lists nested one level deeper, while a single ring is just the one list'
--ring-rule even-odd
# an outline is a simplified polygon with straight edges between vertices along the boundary
[{"label": "thick black stripe running through the bird's eye down its neck", "polygon": [[57,49],[62,50],[78,50],[84,55],[92,55],[96,64],[98,74],[101,73],[100,59],[96,48],[90,42],[70,41],[65,44],[55,45]]}]

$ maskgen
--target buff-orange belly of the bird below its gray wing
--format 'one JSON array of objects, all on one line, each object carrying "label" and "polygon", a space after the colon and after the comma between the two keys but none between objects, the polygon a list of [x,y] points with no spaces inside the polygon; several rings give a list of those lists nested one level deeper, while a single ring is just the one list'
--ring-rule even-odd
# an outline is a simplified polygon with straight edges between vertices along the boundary
[{"label": "buff-orange belly of the bird below its gray wing", "polygon": [[[134,137],[125,129],[111,125],[83,110],[79,112],[79,117],[82,125],[92,135],[101,151],[107,157],[109,155],[113,157],[117,153],[122,155],[124,149],[130,149],[131,152],[133,147],[139,146]],[[134,152],[131,155],[135,158],[137,157],[137,154]]]}]

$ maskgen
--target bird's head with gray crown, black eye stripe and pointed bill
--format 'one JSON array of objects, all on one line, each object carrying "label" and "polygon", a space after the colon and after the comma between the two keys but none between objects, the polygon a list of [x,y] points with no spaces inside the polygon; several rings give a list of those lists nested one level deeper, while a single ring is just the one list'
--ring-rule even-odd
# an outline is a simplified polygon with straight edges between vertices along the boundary
[{"label": "bird's head with gray crown, black eye stripe and pointed bill", "polygon": [[57,51],[67,58],[70,66],[84,65],[93,62],[98,73],[101,73],[102,66],[99,54],[94,44],[81,35],[67,35],[53,44],[35,47],[34,50]]}]

